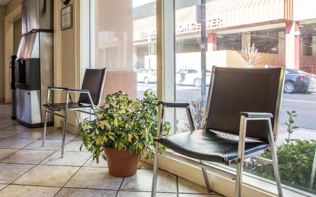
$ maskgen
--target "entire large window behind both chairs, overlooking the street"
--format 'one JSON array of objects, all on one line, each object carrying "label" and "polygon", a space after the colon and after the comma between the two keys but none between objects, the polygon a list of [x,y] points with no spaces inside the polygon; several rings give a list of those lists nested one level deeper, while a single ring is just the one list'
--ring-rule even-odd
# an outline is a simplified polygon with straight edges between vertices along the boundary
[{"label": "entire large window behind both chairs, overlooking the street", "polygon": [[[281,179],[291,190],[316,194],[316,16],[302,7],[289,11],[292,0],[241,1],[174,0],[175,81],[158,85],[175,85],[175,101],[191,103],[200,128],[212,65],[247,66],[240,53],[255,47],[261,59],[252,66],[287,66],[276,142]],[[293,19],[300,15],[304,20]],[[90,30],[90,66],[109,68],[110,91],[157,93],[156,0],[90,0]],[[175,120],[174,132],[190,130],[183,109]],[[274,180],[271,166],[254,160],[244,171]]]}]

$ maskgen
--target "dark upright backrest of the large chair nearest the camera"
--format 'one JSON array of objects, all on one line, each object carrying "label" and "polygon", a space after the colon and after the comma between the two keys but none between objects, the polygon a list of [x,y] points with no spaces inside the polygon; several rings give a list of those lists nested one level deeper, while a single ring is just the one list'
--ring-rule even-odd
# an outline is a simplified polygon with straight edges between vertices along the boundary
[{"label": "dark upright backrest of the large chair nearest the camera", "polygon": [[[276,136],[284,66],[227,68],[213,66],[204,128],[239,134],[240,112],[267,112]],[[246,136],[268,142],[264,121],[248,121]]]}]

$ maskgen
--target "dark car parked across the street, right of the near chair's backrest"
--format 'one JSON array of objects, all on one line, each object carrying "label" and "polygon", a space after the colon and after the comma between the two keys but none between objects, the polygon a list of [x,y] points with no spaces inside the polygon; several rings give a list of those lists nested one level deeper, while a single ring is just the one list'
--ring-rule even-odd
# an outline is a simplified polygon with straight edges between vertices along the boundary
[{"label": "dark car parked across the street, right of the near chair's backrest", "polygon": [[296,69],[286,69],[284,93],[307,92],[316,88],[316,75]]}]

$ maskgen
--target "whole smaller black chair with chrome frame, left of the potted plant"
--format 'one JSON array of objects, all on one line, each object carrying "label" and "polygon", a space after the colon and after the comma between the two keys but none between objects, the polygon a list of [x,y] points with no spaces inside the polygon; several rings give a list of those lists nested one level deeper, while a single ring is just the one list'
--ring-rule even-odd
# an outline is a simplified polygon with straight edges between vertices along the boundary
[{"label": "whole smaller black chair with chrome frame, left of the potted plant", "polygon": [[[103,87],[105,82],[107,68],[102,69],[86,69],[83,77],[82,87],[80,89],[69,89],[61,87],[48,87],[47,102],[43,106],[46,108],[45,123],[43,132],[42,146],[45,146],[46,125],[47,125],[47,113],[51,113],[56,116],[64,118],[64,130],[63,141],[61,147],[61,157],[64,157],[65,135],[67,126],[67,114],[68,111],[74,111],[78,122],[78,112],[94,115],[89,109],[95,109],[101,103],[101,97],[103,93]],[[64,103],[49,103],[50,90],[66,91],[66,102]],[[80,93],[78,102],[73,102],[70,93]],[[55,113],[56,111],[65,111],[64,115]]]}]

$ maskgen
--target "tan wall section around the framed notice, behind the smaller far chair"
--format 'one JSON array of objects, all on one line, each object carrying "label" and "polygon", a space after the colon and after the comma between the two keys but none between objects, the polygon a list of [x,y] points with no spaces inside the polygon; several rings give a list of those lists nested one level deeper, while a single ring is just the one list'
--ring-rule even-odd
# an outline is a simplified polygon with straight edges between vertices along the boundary
[{"label": "tan wall section around the framed notice, behind the smaller far chair", "polygon": [[[80,88],[80,63],[78,51],[80,51],[80,27],[79,27],[79,0],[71,0],[68,5],[73,6],[73,27],[61,30],[60,12],[68,6],[60,0],[54,1],[54,86]],[[77,100],[78,95],[72,98]],[[65,102],[65,93],[56,93],[54,102]],[[60,127],[55,118],[55,126]],[[78,125],[73,112],[69,113],[67,130],[75,132]]]}]

